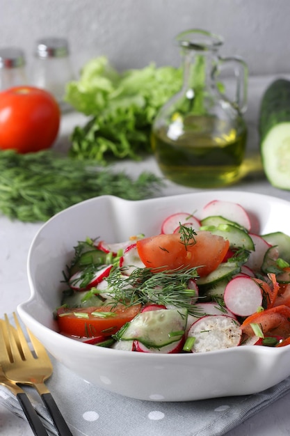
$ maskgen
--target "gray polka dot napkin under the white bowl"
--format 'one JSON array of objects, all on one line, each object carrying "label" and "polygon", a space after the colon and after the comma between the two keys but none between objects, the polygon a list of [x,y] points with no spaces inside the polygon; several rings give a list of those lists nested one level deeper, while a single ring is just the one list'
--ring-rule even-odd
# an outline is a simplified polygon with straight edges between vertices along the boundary
[{"label": "gray polka dot napkin under the white bowl", "polygon": [[[218,436],[287,394],[290,377],[260,394],[184,403],[134,400],[112,394],[77,377],[51,357],[47,387],[75,436]],[[58,435],[38,394],[24,388],[49,434]],[[0,402],[24,417],[16,398],[0,387]],[[24,418],[25,419],[25,418]]]}]

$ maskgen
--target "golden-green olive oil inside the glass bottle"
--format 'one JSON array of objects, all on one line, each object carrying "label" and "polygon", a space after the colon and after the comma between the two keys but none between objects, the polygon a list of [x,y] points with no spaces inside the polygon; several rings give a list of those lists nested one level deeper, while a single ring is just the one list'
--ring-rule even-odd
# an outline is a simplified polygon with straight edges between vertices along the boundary
[{"label": "golden-green olive oil inside the glass bottle", "polygon": [[164,126],[152,132],[152,148],[164,176],[180,185],[204,188],[239,180],[247,137],[243,122],[231,127],[213,117],[192,118],[184,119],[179,137],[176,131],[172,134],[172,125],[171,132]]}]

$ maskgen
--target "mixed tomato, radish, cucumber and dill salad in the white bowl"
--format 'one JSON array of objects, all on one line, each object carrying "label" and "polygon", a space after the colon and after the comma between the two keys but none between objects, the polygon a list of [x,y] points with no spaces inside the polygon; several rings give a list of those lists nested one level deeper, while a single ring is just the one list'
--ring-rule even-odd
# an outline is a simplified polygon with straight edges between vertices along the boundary
[{"label": "mixed tomato, radish, cucumber and dill salad in the white bowl", "polygon": [[251,227],[241,205],[214,200],[165,217],[158,235],[78,242],[59,332],[166,354],[290,344],[290,236]]}]

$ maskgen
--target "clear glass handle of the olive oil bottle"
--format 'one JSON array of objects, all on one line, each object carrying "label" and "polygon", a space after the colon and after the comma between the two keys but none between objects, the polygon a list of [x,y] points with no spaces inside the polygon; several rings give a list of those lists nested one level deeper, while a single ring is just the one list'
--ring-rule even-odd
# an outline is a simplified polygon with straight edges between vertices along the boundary
[{"label": "clear glass handle of the olive oil bottle", "polygon": [[214,77],[219,75],[225,69],[232,70],[235,78],[234,100],[232,104],[239,109],[241,113],[247,109],[248,98],[248,65],[238,56],[218,57],[218,63],[214,69]]}]

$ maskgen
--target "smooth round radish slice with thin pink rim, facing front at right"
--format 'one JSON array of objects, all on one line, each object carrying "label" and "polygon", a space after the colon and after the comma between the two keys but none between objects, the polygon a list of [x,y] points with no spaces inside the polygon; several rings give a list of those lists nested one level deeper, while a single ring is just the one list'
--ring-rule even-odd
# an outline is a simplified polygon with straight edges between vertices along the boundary
[{"label": "smooth round radish slice with thin pink rim, facing front at right", "polygon": [[225,287],[227,309],[237,316],[250,316],[261,306],[263,296],[258,283],[251,277],[235,277]]}]

